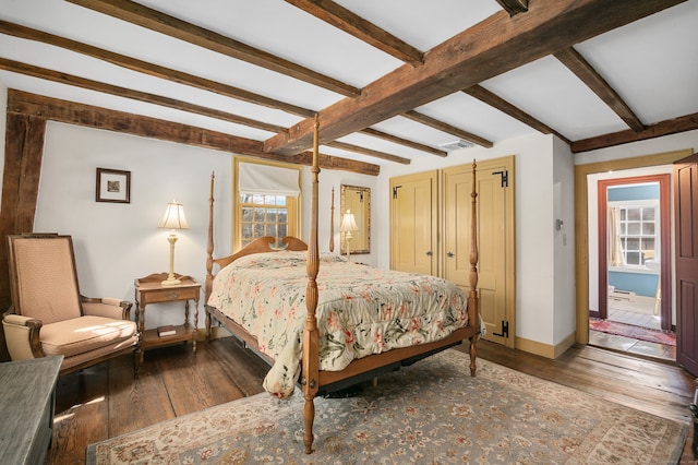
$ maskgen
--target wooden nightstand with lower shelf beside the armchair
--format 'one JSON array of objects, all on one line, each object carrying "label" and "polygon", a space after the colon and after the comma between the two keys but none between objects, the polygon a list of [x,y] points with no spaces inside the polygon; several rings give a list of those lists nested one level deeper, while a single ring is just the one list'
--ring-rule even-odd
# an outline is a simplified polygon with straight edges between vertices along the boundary
[{"label": "wooden nightstand with lower shelf beside the armchair", "polygon": [[[141,332],[141,360],[143,363],[143,351],[178,342],[192,342],[193,350],[196,351],[196,323],[198,321],[198,297],[201,295],[201,284],[190,276],[174,274],[181,281],[173,286],[163,286],[161,282],[167,279],[167,273],[156,273],[149,276],[135,279],[135,314]],[[194,301],[194,321],[189,322],[189,301]],[[148,303],[163,303],[184,301],[184,324],[176,325],[176,334],[170,336],[159,336],[157,329],[146,330],[145,306]]]}]

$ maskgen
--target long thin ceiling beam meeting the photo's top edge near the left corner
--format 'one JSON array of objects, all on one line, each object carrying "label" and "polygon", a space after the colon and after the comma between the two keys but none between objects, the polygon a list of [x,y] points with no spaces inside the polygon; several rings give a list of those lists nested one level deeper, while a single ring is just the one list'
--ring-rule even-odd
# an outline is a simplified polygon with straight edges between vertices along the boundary
[{"label": "long thin ceiling beam meeting the photo's top edge near the left corner", "polygon": [[130,0],[67,1],[176,37],[195,46],[207,48],[230,58],[243,60],[257,67],[309,82],[347,97],[353,97],[361,93],[361,90],[336,79]]}]

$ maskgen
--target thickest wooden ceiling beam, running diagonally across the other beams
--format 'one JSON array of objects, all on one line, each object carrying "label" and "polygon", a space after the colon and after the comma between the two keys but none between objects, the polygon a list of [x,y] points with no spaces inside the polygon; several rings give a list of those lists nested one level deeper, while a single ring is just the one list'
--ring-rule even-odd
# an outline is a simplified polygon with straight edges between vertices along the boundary
[{"label": "thickest wooden ceiling beam, running diagonally across the other beams", "polygon": [[[320,142],[360,131],[437,98],[665,10],[685,0],[537,0],[526,14],[506,12],[447,39],[424,53],[424,64],[404,64],[318,114]],[[292,155],[313,144],[313,119],[264,143]]]}]

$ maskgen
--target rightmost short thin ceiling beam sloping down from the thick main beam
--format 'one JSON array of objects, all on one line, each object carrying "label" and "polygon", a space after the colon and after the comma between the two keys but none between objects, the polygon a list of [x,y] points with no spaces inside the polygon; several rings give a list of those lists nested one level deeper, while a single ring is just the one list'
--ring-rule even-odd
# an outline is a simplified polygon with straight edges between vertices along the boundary
[{"label": "rightmost short thin ceiling beam sloping down from the thick main beam", "polygon": [[633,112],[617,92],[573,47],[553,53],[565,67],[599,96],[635,132],[642,132],[645,124]]}]

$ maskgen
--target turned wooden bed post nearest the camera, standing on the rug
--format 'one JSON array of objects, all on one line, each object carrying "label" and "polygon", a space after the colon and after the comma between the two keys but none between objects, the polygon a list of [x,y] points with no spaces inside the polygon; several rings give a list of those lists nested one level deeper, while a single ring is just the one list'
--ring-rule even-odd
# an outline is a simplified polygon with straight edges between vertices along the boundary
[{"label": "turned wooden bed post nearest the camera, standing on the rug", "polygon": [[315,115],[314,139],[313,139],[313,166],[312,172],[312,201],[310,220],[310,241],[308,245],[308,287],[305,289],[305,327],[303,330],[303,358],[302,358],[302,381],[303,397],[303,420],[305,422],[305,434],[303,443],[305,453],[313,452],[313,421],[315,420],[315,394],[320,388],[320,353],[318,332],[315,310],[317,309],[317,272],[320,269],[320,257],[317,251],[317,175],[320,174],[317,145],[318,145],[318,119]]}]

